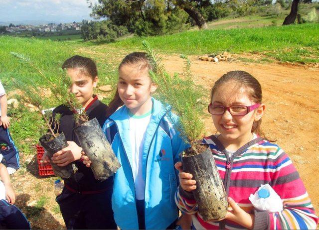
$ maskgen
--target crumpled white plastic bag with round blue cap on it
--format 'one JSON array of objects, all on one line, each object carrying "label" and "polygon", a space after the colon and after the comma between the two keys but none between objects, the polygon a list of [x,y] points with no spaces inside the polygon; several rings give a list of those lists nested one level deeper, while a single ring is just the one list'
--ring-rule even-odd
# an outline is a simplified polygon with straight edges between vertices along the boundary
[{"label": "crumpled white plastic bag with round blue cap on it", "polygon": [[[264,194],[266,194],[266,198],[261,198],[258,195],[260,190],[264,190],[261,191],[260,194],[265,192]],[[259,211],[268,211],[271,213],[283,211],[283,201],[269,184],[261,185],[255,194],[251,194],[249,196],[249,200],[255,209]]]}]

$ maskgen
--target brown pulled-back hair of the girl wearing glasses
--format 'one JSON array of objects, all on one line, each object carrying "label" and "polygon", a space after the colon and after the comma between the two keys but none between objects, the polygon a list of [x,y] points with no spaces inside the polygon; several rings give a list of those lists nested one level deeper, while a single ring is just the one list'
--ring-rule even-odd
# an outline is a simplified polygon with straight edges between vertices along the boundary
[{"label": "brown pulled-back hair of the girl wearing glasses", "polygon": [[[248,98],[254,103],[262,103],[262,90],[261,85],[258,80],[254,78],[252,75],[245,71],[230,71],[223,76],[221,76],[214,84],[211,89],[210,100],[212,101],[214,94],[217,89],[225,84],[225,83],[235,83],[238,88],[244,88],[246,90]],[[251,129],[252,132],[257,133],[258,135],[265,137],[263,131],[261,130],[261,118],[258,121],[254,121],[253,127]]]}]

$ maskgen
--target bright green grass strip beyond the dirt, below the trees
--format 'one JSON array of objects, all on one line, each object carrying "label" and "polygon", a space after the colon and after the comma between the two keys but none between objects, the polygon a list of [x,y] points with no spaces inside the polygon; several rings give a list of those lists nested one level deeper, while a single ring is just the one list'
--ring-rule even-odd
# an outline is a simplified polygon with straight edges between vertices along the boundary
[{"label": "bright green grass strip beyond the dirt, below the trees", "polygon": [[[178,53],[187,55],[209,54],[222,51],[232,53],[242,52],[277,52],[271,55],[280,61],[291,60],[290,56],[298,55],[297,61],[319,61],[319,26],[318,24],[297,24],[289,26],[271,26],[262,28],[235,28],[186,31],[182,33],[156,36],[133,37],[110,43],[106,46],[119,49],[141,50],[142,41],[146,39],[154,49],[165,53]],[[94,42],[86,45],[95,46]],[[294,50],[307,48],[314,58],[309,59],[305,53]],[[285,56],[287,58],[285,58]],[[289,56],[289,55],[288,55]],[[295,58],[296,60],[296,58]]]}]

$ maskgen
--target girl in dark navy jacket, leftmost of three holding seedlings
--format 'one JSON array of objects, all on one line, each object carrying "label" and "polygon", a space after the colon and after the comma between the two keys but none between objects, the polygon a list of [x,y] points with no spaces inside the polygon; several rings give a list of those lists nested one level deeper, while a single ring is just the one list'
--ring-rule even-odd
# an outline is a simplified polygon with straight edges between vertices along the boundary
[{"label": "girl in dark navy jacket, leftmost of three holding seedlings", "polygon": [[[62,69],[71,78],[71,92],[82,104],[89,119],[97,118],[102,126],[110,113],[109,108],[93,95],[98,82],[95,63],[85,57],[73,56],[67,59]],[[53,116],[60,114],[58,132],[63,132],[69,146],[55,153],[52,162],[66,166],[74,162],[78,171],[64,179],[64,189],[56,197],[67,229],[117,229],[111,207],[113,177],[105,181],[95,180],[90,168],[80,161],[82,148],[74,133],[75,121],[67,106],[60,105],[53,110]],[[77,144],[77,145],[76,145]],[[44,156],[43,161],[48,160]]]}]

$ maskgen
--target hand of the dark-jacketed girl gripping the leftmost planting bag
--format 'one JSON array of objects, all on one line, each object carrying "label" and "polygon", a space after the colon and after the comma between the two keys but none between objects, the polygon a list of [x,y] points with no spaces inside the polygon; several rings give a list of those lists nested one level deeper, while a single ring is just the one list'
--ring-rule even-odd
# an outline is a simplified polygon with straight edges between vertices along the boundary
[{"label": "hand of the dark-jacketed girl gripping the leftmost planting bag", "polygon": [[82,148],[74,141],[68,141],[68,146],[53,154],[51,160],[58,166],[66,166],[81,159]]}]

